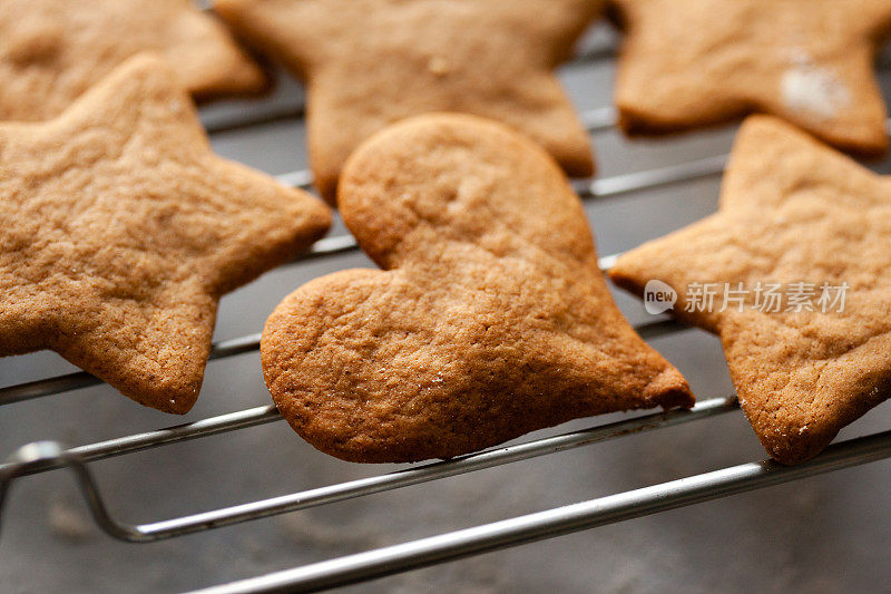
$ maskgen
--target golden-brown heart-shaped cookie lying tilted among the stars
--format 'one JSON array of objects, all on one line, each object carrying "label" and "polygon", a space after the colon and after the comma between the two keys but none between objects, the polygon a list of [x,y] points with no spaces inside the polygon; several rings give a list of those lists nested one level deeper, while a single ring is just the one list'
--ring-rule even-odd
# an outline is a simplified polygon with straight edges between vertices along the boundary
[{"label": "golden-brown heart-shaped cookie lying tilted among the stars", "polygon": [[356,150],[339,205],[383,271],[303,285],[261,341],[273,400],[322,451],[448,458],[578,417],[693,405],[613,303],[578,197],[526,137],[417,116]]}]

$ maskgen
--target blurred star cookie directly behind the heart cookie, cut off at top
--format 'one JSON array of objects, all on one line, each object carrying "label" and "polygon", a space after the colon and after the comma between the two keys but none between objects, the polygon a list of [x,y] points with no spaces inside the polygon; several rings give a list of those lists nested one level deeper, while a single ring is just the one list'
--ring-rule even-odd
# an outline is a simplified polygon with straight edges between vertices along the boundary
[{"label": "blurred star cookie directly behind the heart cookie, cut off at top", "polygon": [[333,201],[346,157],[408,116],[461,111],[537,140],[575,176],[588,135],[551,70],[601,0],[217,0],[246,40],[307,81],[310,156]]}]

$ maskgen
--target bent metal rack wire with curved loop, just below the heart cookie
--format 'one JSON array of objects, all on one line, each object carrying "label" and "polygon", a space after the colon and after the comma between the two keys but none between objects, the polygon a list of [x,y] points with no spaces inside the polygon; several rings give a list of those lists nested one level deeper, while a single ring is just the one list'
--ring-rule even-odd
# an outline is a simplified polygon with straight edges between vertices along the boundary
[{"label": "bent metal rack wire with curved loop, just below the heart cookie", "polygon": [[239,524],[242,522],[272,515],[285,514],[287,512],[343,502],[345,499],[410,485],[428,483],[430,480],[462,475],[483,468],[491,468],[493,466],[501,466],[547,454],[554,454],[556,451],[588,446],[631,434],[672,427],[692,420],[728,412],[735,410],[737,407],[736,400],[733,398],[715,398],[696,405],[692,410],[669,410],[635,417],[609,425],[596,426],[589,429],[562,434],[556,437],[548,437],[516,446],[486,450],[386,475],[352,480],[340,485],[332,485],[281,497],[272,497],[151,524],[125,524],[116,520],[108,514],[101,493],[91,473],[87,468],[86,462],[163,446],[173,442],[173,439],[168,438],[173,438],[177,434],[182,436],[182,439],[192,439],[205,437],[207,435],[216,435],[224,430],[260,425],[277,418],[277,413],[273,415],[275,410],[274,407],[260,408],[265,410],[257,410],[257,415],[248,419],[241,419],[237,426],[227,423],[225,428],[223,428],[223,422],[214,425],[213,420],[208,420],[210,423],[209,426],[205,422],[203,427],[196,428],[193,423],[192,426],[174,427],[167,430],[144,434],[143,436],[114,439],[72,449],[65,449],[57,441],[38,441],[23,446],[12,455],[7,464],[0,467],[0,513],[2,512],[2,503],[6,494],[9,491],[13,479],[55,468],[67,467],[75,473],[78,486],[84,494],[84,498],[87,500],[87,505],[96,523],[106,533],[121,541],[148,543]]}]

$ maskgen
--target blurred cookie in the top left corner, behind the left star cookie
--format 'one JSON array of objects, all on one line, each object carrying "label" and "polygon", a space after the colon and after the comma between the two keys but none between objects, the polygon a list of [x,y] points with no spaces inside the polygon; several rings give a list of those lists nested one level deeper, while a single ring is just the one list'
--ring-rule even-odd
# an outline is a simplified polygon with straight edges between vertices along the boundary
[{"label": "blurred cookie in the top left corner, behind the left star cookie", "polygon": [[260,67],[192,0],[3,0],[0,119],[50,119],[140,51],[168,58],[199,100],[267,87]]}]

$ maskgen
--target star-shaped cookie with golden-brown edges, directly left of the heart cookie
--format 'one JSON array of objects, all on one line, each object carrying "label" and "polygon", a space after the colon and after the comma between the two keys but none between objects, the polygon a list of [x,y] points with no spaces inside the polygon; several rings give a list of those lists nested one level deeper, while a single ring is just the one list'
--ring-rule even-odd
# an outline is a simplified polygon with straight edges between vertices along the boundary
[{"label": "star-shaped cookie with golden-brown edges, directly left of the heart cookie", "polygon": [[213,154],[160,58],[0,125],[0,356],[52,349],[134,400],[195,402],[217,299],[322,235],[309,194]]}]

